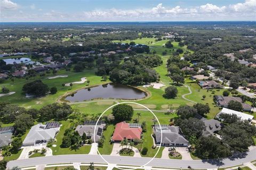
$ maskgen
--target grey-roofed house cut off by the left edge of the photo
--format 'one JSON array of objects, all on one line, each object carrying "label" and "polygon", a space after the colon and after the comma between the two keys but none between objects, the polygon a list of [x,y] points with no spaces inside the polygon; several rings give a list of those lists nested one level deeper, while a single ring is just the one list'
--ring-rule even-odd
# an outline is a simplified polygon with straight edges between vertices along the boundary
[{"label": "grey-roofed house cut off by the left edge of the photo", "polygon": [[13,126],[0,128],[0,148],[10,145],[12,142]]}]

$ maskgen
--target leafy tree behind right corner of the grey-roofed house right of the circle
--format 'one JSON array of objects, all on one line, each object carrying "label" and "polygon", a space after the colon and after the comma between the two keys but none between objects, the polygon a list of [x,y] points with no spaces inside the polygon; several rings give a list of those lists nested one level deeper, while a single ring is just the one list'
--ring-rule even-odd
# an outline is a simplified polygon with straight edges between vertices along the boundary
[{"label": "leafy tree behind right corner of the grey-roofed house right of the circle", "polygon": [[203,130],[205,130],[204,122],[194,117],[185,120],[176,120],[175,124],[180,126],[182,133],[186,135],[188,139],[191,136],[195,136],[196,138],[201,137]]}]

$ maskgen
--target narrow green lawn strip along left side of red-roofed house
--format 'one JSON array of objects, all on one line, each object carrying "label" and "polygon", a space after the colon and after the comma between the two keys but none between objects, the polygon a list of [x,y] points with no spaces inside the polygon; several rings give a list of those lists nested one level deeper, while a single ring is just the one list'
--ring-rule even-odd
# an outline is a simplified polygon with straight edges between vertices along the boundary
[{"label": "narrow green lawn strip along left side of red-roofed house", "polygon": [[107,130],[103,131],[105,137],[105,142],[102,148],[98,148],[101,155],[110,155],[113,150],[113,144],[110,143],[111,135],[113,134],[115,126],[110,124],[107,127]]}]

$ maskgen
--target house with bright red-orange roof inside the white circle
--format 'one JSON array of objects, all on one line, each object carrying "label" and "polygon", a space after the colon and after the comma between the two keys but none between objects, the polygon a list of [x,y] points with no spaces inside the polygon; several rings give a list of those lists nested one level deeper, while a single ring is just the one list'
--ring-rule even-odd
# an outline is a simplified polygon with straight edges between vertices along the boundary
[{"label": "house with bright red-orange roof inside the white circle", "polygon": [[141,125],[138,123],[129,124],[120,122],[116,124],[115,132],[111,141],[120,142],[124,139],[133,140],[141,138]]}]

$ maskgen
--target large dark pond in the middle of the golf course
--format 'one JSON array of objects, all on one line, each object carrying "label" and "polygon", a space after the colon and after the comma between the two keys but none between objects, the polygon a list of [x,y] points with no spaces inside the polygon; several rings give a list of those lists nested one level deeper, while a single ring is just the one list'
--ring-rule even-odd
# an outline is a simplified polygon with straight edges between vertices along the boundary
[{"label": "large dark pond in the middle of the golf course", "polygon": [[146,92],[143,92],[137,88],[122,84],[109,83],[89,89],[78,90],[76,94],[66,97],[65,100],[75,102],[96,98],[141,99],[146,96]]}]

